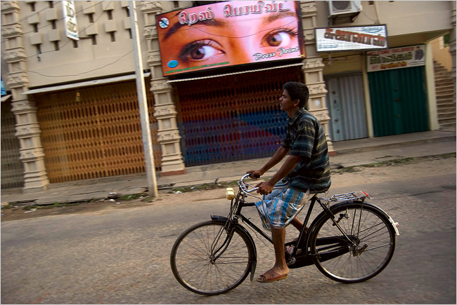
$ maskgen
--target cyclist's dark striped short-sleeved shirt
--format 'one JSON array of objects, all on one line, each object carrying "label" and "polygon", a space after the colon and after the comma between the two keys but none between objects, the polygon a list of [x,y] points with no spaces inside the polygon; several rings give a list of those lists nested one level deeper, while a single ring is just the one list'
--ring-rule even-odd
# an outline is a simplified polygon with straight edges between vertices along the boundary
[{"label": "cyclist's dark striped short-sleeved shirt", "polygon": [[311,194],[323,193],[330,187],[330,160],[326,134],[321,123],[306,109],[299,109],[289,118],[281,144],[292,156],[301,156],[300,162],[283,179],[290,189]]}]

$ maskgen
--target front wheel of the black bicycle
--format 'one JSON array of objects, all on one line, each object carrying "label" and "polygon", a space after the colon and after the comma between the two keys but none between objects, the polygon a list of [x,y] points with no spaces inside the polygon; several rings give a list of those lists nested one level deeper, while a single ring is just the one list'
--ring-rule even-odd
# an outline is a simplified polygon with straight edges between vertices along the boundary
[{"label": "front wheel of the black bicycle", "polygon": [[[255,245],[249,233],[236,226],[226,250],[212,262],[212,248],[226,239],[226,222],[210,220],[184,231],[173,245],[170,264],[176,280],[192,292],[214,295],[243,283],[255,264]],[[219,238],[218,238],[219,236]],[[216,247],[212,247],[217,240]]]}]

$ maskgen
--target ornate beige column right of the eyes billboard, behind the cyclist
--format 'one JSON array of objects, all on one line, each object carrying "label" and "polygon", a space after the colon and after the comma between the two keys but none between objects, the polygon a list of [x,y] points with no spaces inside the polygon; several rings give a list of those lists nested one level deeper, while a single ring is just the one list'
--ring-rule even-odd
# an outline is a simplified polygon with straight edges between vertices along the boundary
[{"label": "ornate beige column right of the eyes billboard, behind the cyclist", "polygon": [[336,151],[328,132],[330,116],[326,106],[326,83],[323,81],[323,61],[316,52],[316,28],[317,7],[315,1],[300,1],[302,9],[302,26],[306,58],[303,60],[302,70],[305,84],[309,88],[308,110],[316,116],[326,133],[329,156],[335,156]]}]

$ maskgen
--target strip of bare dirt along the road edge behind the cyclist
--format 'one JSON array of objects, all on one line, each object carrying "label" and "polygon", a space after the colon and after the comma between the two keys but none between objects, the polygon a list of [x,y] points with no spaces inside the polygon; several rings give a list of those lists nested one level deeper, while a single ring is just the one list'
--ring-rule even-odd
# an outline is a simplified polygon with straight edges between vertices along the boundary
[{"label": "strip of bare dirt along the road edge behind the cyclist", "polygon": [[[345,187],[346,185],[383,182],[406,177],[432,177],[443,172],[456,172],[456,154],[432,156],[425,158],[408,158],[397,161],[375,163],[371,165],[342,168],[332,171],[332,185]],[[137,194],[132,198],[117,198],[113,201],[101,200],[85,203],[66,203],[46,206],[13,205],[1,209],[1,221],[30,219],[43,216],[77,214],[77,213],[108,213],[115,210],[140,208],[148,205],[169,203],[195,203],[225,198],[224,188],[210,186],[195,189],[160,191],[158,198],[149,198],[147,194]],[[233,187],[233,186],[232,186]],[[236,187],[234,187],[236,189]]]}]

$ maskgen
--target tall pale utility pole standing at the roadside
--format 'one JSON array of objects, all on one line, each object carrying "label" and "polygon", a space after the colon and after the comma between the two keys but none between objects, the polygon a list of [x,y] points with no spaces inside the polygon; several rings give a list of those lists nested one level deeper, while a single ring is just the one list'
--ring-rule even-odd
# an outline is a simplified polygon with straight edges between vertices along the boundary
[{"label": "tall pale utility pole standing at the roadside", "polygon": [[148,193],[152,198],[158,196],[157,179],[155,179],[155,165],[153,143],[150,136],[148,116],[148,101],[146,99],[146,86],[144,85],[143,61],[141,60],[141,46],[138,39],[138,20],[136,18],[135,1],[129,1],[130,27],[132,43],[134,46],[136,94],[140,109],[141,135],[143,136],[143,150],[146,163],[146,177],[148,178]]}]

